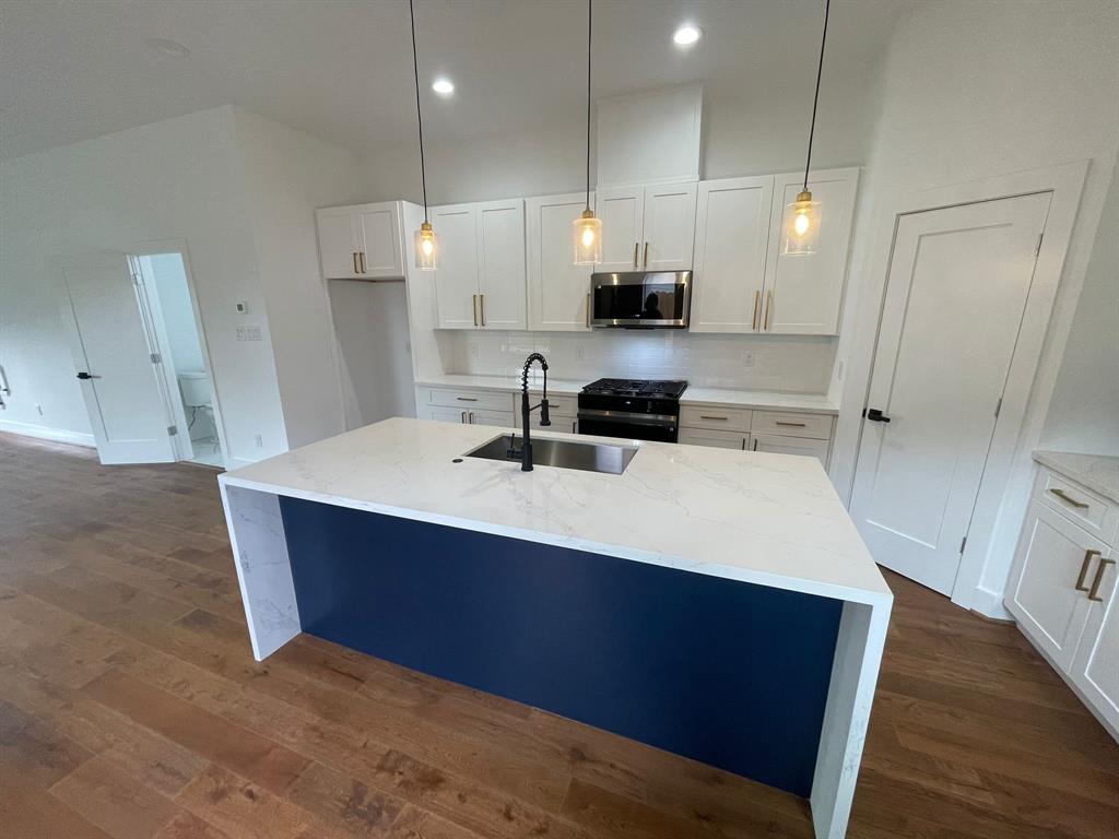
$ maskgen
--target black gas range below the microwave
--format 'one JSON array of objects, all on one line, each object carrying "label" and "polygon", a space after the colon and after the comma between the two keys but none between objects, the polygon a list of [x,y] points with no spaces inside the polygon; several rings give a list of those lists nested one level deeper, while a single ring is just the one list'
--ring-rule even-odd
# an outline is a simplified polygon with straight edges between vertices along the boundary
[{"label": "black gas range below the microwave", "polygon": [[599,379],[579,395],[579,433],[675,443],[687,381]]}]

